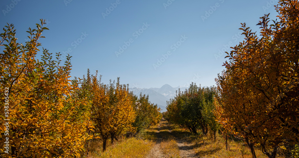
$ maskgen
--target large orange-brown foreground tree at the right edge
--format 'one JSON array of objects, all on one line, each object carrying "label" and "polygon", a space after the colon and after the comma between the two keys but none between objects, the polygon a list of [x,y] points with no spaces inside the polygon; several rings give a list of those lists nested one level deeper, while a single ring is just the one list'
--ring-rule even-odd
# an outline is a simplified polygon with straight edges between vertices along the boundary
[{"label": "large orange-brown foreground tree at the right edge", "polygon": [[299,138],[299,3],[280,0],[278,21],[265,15],[261,37],[246,24],[240,28],[245,41],[228,53],[226,70],[216,79],[222,118],[244,139],[255,156],[254,146],[275,158],[277,149]]}]

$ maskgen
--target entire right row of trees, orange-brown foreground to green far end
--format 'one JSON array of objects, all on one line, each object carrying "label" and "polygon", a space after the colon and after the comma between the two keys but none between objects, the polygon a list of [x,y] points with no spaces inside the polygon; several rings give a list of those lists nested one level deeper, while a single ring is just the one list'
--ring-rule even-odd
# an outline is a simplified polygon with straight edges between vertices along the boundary
[{"label": "entire right row of trees, orange-brown foreground to green far end", "polygon": [[[167,106],[167,119],[197,133],[217,131],[244,140],[256,158],[259,146],[269,158],[299,138],[299,2],[280,0],[279,20],[263,16],[260,34],[243,23],[245,41],[231,47],[217,87],[195,84]],[[259,38],[258,35],[261,37]]]}]

